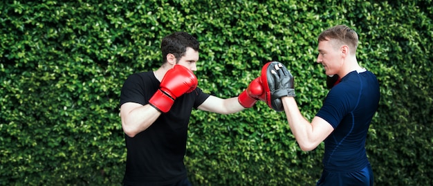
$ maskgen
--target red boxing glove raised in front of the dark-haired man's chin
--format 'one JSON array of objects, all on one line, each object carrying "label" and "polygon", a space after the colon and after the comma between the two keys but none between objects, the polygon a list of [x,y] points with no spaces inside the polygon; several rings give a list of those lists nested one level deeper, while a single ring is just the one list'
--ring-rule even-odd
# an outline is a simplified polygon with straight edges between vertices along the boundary
[{"label": "red boxing glove raised in front of the dark-haired man's chin", "polygon": [[165,73],[160,88],[150,98],[149,104],[163,113],[167,113],[174,100],[184,93],[190,93],[197,87],[197,77],[185,66],[174,65]]}]

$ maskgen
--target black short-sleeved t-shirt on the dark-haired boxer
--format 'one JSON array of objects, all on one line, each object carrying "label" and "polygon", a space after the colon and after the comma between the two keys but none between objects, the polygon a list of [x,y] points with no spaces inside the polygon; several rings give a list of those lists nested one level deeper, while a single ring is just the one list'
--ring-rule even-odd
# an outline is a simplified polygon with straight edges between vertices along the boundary
[{"label": "black short-sleeved t-shirt on the dark-haired boxer", "polygon": [[[126,102],[148,104],[159,89],[153,72],[130,75],[122,86],[120,105]],[[125,135],[127,185],[167,185],[187,176],[185,156],[187,127],[192,108],[197,108],[210,95],[196,88],[178,97],[167,113],[133,138]]]}]

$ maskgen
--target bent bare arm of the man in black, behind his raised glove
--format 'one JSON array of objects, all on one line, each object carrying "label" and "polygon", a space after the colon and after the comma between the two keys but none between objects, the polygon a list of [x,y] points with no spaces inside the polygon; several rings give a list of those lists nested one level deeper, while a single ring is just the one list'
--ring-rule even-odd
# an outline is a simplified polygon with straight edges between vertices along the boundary
[{"label": "bent bare arm of the man in black, behind his raised glove", "polygon": [[120,106],[122,129],[131,138],[147,129],[159,115],[161,113],[150,104],[143,106],[142,104],[127,102]]}]

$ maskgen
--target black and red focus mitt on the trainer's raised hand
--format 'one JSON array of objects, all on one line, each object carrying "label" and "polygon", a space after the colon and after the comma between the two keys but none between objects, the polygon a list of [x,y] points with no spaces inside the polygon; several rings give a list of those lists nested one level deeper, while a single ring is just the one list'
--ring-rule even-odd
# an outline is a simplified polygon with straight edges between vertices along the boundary
[{"label": "black and red focus mitt on the trainer's raised hand", "polygon": [[266,103],[275,111],[284,111],[281,97],[295,96],[293,75],[280,62],[268,62],[261,68]]}]

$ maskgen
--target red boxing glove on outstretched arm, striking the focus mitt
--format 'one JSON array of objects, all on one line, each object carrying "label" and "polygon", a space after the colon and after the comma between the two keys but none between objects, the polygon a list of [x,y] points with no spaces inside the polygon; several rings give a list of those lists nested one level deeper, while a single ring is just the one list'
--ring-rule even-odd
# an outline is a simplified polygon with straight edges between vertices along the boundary
[{"label": "red boxing glove on outstretched arm, striking the focus mitt", "polygon": [[245,108],[251,108],[257,100],[266,100],[263,86],[261,85],[261,78],[257,77],[255,80],[252,80],[248,85],[248,88],[243,91],[237,97],[239,104],[241,104]]}]

